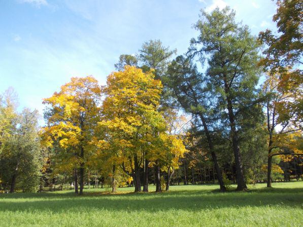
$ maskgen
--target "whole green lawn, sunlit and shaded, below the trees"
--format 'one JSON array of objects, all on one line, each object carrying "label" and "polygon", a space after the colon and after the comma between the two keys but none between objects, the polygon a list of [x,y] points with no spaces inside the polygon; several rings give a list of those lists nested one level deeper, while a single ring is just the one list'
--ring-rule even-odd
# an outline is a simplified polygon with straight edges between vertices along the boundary
[{"label": "whole green lawn, sunlit and shaded, below the trees", "polygon": [[[0,195],[0,226],[303,226],[303,182],[217,191],[217,185],[171,186],[162,194],[86,189]],[[153,186],[150,190],[155,190]]]}]

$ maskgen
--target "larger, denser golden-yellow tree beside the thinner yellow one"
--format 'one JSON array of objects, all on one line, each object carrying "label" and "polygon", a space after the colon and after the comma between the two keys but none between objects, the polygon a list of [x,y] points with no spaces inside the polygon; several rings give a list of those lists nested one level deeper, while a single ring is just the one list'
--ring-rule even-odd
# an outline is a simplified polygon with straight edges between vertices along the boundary
[{"label": "larger, denser golden-yellow tree beside the thinner yellow one", "polygon": [[153,73],[144,73],[134,66],[108,76],[104,88],[101,130],[117,165],[132,177],[135,192],[141,192],[140,168],[158,133],[165,129],[157,111],[162,85]]}]

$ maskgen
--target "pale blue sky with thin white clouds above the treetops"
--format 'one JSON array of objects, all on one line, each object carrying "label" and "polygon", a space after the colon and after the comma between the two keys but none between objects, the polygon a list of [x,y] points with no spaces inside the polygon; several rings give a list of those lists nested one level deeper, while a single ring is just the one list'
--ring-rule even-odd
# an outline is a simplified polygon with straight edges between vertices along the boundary
[{"label": "pale blue sky with thin white clouds above the treetops", "polygon": [[276,28],[272,0],[0,0],[0,94],[13,87],[19,110],[42,115],[42,99],[71,77],[93,75],[105,85],[120,54],[137,53],[145,41],[185,53],[200,9],[225,6],[254,35]]}]

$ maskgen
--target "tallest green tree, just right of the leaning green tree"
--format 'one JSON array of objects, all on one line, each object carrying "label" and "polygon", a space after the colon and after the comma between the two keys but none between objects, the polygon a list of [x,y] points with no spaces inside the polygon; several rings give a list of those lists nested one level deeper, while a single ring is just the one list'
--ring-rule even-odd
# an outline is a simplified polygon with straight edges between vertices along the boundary
[{"label": "tallest green tree, just right of the leaning green tree", "polygon": [[216,8],[210,14],[201,11],[201,17],[195,24],[200,35],[191,40],[188,54],[191,57],[199,56],[201,63],[207,60],[205,77],[212,90],[216,91],[223,118],[226,116],[229,121],[237,169],[237,190],[242,191],[247,186],[239,144],[239,117],[241,112],[257,103],[259,45],[249,28],[236,23],[234,16],[234,11],[228,7],[222,11]]}]

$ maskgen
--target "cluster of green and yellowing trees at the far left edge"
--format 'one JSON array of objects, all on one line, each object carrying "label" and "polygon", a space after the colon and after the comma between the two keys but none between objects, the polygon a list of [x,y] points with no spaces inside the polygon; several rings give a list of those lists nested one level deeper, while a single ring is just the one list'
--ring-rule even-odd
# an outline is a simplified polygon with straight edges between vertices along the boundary
[{"label": "cluster of green and yellowing trees at the far left edge", "polygon": [[0,183],[11,193],[36,190],[44,161],[38,111],[17,113],[16,98],[12,89],[0,96]]}]

